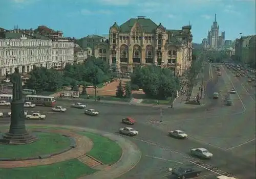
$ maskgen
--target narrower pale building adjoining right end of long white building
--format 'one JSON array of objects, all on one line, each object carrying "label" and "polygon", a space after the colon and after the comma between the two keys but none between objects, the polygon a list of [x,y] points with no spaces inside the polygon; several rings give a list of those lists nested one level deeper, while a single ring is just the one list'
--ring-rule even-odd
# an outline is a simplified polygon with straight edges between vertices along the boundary
[{"label": "narrower pale building adjoining right end of long white building", "polygon": [[74,40],[71,38],[52,39],[52,66],[63,68],[74,62]]}]

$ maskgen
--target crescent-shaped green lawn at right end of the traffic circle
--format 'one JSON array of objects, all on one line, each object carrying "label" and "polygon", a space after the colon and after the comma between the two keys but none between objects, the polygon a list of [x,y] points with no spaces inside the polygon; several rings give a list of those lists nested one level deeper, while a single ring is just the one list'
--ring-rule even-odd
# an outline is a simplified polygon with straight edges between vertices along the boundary
[{"label": "crescent-shaped green lawn at right end of the traffic circle", "polygon": [[93,148],[88,155],[104,164],[114,164],[122,156],[122,148],[116,142],[93,133],[80,132],[79,134],[93,141]]}]

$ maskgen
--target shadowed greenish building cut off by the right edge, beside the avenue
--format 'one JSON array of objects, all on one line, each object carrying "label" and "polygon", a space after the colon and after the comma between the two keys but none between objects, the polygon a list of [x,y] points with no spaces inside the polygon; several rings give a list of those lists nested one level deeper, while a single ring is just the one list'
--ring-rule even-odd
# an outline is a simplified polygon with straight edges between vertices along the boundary
[{"label": "shadowed greenish building cut off by the right edge, beside the avenue", "polygon": [[244,64],[255,64],[255,38],[256,36],[243,36],[236,39],[235,58]]}]

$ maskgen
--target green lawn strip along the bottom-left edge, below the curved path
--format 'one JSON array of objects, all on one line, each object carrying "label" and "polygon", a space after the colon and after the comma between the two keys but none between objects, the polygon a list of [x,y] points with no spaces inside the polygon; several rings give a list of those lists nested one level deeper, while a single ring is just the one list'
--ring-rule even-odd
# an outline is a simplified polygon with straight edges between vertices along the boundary
[{"label": "green lawn strip along the bottom-left edge, below the curved path", "polygon": [[0,168],[0,179],[77,179],[97,170],[92,169],[77,159],[51,165],[25,168]]}]

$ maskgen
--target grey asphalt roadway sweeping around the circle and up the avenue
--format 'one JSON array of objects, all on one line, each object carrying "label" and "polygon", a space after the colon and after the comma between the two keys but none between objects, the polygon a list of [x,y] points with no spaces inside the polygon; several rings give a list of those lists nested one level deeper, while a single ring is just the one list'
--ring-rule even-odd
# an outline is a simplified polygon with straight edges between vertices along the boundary
[{"label": "grey asphalt roadway sweeping around the circle and up the avenue", "polygon": [[[246,92],[237,79],[225,68],[222,76],[217,76],[212,65],[205,64],[204,81],[209,79],[205,90],[207,105],[197,109],[161,109],[133,105],[87,103],[88,109],[100,111],[99,116],[87,116],[82,109],[70,108],[71,101],[58,100],[58,105],[66,107],[65,113],[52,112],[51,108],[36,107],[28,113],[40,112],[47,115],[45,121],[27,123],[48,123],[90,127],[110,133],[117,133],[126,126],[120,121],[131,116],[137,123],[133,126],[140,134],[129,138],[142,151],[139,164],[119,179],[126,178],[173,178],[167,168],[180,166],[202,170],[198,178],[215,178],[231,173],[237,177],[255,178],[255,98]],[[233,106],[225,105],[225,98],[232,88]],[[212,99],[212,93],[219,92],[219,99]],[[249,92],[249,91],[248,91]],[[254,93],[255,94],[255,93]],[[26,109],[27,110],[27,109]],[[5,114],[9,108],[0,107]],[[162,122],[161,122],[161,121]],[[0,119],[1,123],[10,118]],[[169,130],[183,130],[189,138],[178,140],[167,136]],[[119,135],[119,134],[117,134]],[[207,148],[214,157],[200,160],[189,155],[190,148]]]}]

